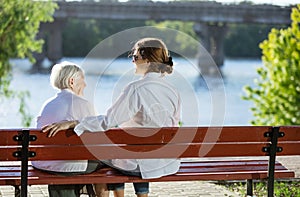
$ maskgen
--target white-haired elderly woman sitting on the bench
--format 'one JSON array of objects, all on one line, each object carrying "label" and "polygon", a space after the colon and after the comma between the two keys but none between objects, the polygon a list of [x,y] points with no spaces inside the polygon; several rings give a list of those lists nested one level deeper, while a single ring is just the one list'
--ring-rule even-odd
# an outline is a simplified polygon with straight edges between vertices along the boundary
[{"label": "white-haired elderly woman sitting on the bench", "polygon": [[[59,92],[48,99],[37,117],[37,127],[41,128],[59,121],[82,120],[94,116],[94,107],[83,98],[86,87],[84,72],[76,64],[62,62],[53,66],[50,82]],[[95,171],[99,161],[32,161],[32,165],[49,173],[62,175],[85,174]],[[79,197],[80,185],[49,185],[50,197]],[[92,189],[92,188],[90,188]],[[90,193],[92,190],[90,190]],[[103,196],[105,196],[103,194]],[[108,192],[107,192],[108,196]]]}]

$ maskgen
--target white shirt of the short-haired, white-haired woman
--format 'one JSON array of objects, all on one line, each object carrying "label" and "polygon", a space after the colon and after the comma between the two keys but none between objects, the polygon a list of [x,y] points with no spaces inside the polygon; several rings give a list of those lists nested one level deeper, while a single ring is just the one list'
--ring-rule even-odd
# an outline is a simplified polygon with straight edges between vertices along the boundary
[{"label": "white shirt of the short-haired, white-haired woman", "polygon": [[[64,89],[44,103],[41,113],[37,117],[37,128],[64,120],[80,121],[84,117],[95,114],[93,106],[87,100],[75,95],[68,89]],[[32,165],[42,170],[54,172],[83,172],[87,168],[87,160],[32,161]]]}]

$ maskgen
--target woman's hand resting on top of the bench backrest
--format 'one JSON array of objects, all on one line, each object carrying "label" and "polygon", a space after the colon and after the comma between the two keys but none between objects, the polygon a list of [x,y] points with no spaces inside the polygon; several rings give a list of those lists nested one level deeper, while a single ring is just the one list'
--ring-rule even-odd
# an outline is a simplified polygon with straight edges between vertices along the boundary
[{"label": "woman's hand resting on top of the bench backrest", "polygon": [[78,123],[79,122],[77,120],[57,122],[57,123],[53,123],[53,124],[44,126],[42,128],[42,132],[43,133],[48,132],[48,137],[53,137],[61,130],[67,130],[67,129],[75,128],[75,126]]}]

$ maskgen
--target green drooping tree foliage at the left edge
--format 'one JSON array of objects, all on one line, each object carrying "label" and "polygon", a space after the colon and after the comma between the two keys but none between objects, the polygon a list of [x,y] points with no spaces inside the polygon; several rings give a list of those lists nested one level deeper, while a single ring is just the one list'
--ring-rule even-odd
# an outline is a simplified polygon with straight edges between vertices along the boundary
[{"label": "green drooping tree foliage at the left edge", "polygon": [[41,52],[43,40],[36,40],[41,22],[52,21],[57,5],[51,1],[0,0],[0,98],[20,98],[19,112],[23,125],[29,126],[31,117],[25,111],[27,92],[10,88],[12,67],[10,58],[29,58]]}]

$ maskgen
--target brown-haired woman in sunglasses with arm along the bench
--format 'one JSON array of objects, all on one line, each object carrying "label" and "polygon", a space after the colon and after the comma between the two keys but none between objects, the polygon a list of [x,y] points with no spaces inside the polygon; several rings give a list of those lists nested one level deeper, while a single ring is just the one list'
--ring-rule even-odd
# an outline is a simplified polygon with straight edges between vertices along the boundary
[{"label": "brown-haired woman in sunglasses with arm along the bench", "polygon": [[[173,71],[172,58],[165,43],[157,38],[144,38],[136,42],[131,55],[136,74],[142,78],[129,83],[108,109],[106,115],[91,116],[51,124],[43,128],[48,136],[58,131],[74,128],[80,135],[85,130],[106,131],[115,125],[120,127],[164,127],[178,126],[180,118],[180,96],[165,78]],[[144,179],[158,178],[178,171],[178,159],[115,159],[104,161],[121,172]],[[135,183],[138,197],[147,197],[149,183]],[[115,196],[124,196],[124,184],[108,184]]]}]

